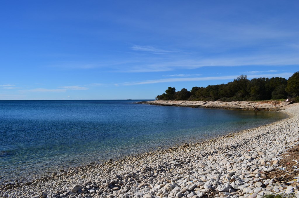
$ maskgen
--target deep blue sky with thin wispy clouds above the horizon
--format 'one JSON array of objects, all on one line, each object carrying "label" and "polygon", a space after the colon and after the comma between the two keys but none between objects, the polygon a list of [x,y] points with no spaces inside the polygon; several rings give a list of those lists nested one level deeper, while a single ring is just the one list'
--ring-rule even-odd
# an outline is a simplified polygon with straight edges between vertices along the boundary
[{"label": "deep blue sky with thin wispy clouds above the horizon", "polygon": [[299,1],[0,1],[0,100],[154,99],[299,71]]}]

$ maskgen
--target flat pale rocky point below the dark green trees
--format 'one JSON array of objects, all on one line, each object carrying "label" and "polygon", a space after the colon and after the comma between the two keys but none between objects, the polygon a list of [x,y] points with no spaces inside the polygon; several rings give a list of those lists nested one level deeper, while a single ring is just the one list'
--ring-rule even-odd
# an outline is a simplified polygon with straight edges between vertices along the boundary
[{"label": "flat pale rocky point below the dark green trees", "polygon": [[236,110],[258,110],[258,111],[280,111],[285,109],[286,105],[292,102],[286,101],[190,101],[190,100],[152,100],[139,102],[143,104],[152,104],[159,106],[187,106],[218,109],[236,109]]}]

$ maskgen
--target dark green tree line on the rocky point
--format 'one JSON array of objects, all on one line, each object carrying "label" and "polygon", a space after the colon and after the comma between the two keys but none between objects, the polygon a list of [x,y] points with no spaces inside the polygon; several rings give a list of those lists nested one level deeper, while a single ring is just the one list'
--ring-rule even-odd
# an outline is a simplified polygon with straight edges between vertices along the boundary
[{"label": "dark green tree line on the rocky point", "polygon": [[227,84],[193,87],[191,91],[183,88],[176,92],[175,87],[168,87],[156,100],[244,101],[286,98],[299,102],[299,71],[288,80],[281,77],[248,80],[246,75],[240,75]]}]

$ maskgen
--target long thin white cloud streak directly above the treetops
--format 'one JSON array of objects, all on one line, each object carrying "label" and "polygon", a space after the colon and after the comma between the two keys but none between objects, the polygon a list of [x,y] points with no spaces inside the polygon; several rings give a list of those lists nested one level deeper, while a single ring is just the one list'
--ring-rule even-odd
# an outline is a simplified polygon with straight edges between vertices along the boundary
[{"label": "long thin white cloud streak directly above the treetops", "polygon": [[[292,76],[293,73],[280,73],[280,74],[256,74],[256,75],[248,75],[248,79],[252,78],[260,78],[260,77],[283,77],[288,78]],[[232,76],[217,76],[217,77],[193,77],[193,78],[164,78],[158,80],[145,80],[141,82],[127,82],[123,83],[124,86],[130,85],[144,85],[144,84],[154,84],[154,83],[169,83],[169,82],[187,82],[187,81],[207,81],[207,80],[234,80],[238,77],[238,75]]]}]

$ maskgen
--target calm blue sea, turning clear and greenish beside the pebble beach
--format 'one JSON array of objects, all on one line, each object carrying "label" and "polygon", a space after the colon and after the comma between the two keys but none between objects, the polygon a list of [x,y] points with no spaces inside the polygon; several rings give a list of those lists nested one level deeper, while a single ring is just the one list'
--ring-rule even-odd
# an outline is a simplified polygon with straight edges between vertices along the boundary
[{"label": "calm blue sea, turning clear and greenish beside the pebble beach", "polygon": [[0,101],[0,183],[199,141],[286,117],[279,112],[137,101]]}]

